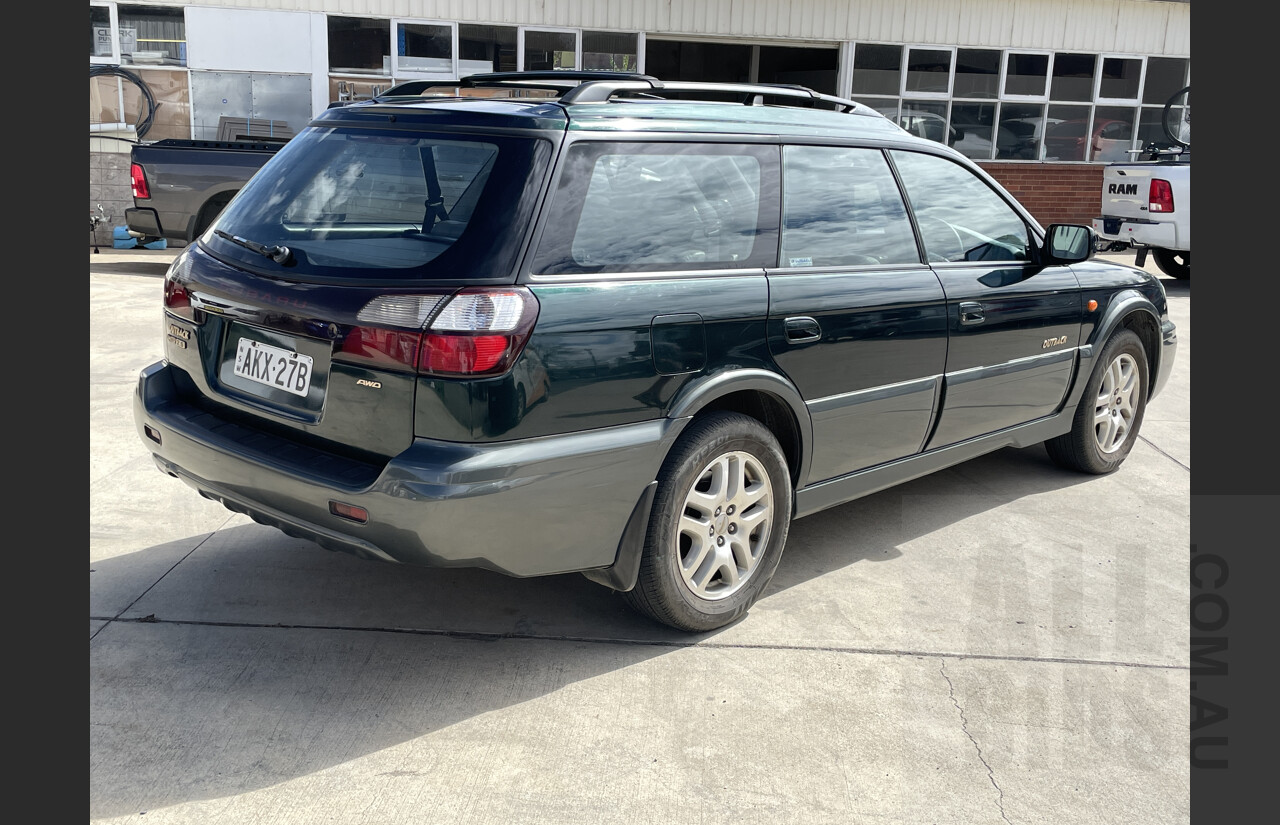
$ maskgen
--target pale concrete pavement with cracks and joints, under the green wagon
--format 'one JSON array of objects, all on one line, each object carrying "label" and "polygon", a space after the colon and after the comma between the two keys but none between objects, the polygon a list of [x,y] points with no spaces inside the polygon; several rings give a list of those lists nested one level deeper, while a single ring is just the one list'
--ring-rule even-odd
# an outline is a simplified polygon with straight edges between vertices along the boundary
[{"label": "pale concrete pavement with cracks and joints, under the green wagon", "polygon": [[131,404],[175,253],[90,253],[92,822],[1189,821],[1189,283],[1117,473],[1005,449],[800,519],[746,619],[687,637],[160,473]]}]

